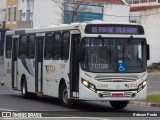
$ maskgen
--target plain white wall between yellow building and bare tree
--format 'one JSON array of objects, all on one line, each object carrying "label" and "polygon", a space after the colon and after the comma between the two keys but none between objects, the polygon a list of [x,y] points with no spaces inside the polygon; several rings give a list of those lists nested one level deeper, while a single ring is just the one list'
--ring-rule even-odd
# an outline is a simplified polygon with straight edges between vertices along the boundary
[{"label": "plain white wall between yellow building and bare tree", "polygon": [[[61,0],[58,2],[62,3]],[[34,0],[33,27],[48,26],[50,24],[61,24],[62,4],[52,0]]]}]

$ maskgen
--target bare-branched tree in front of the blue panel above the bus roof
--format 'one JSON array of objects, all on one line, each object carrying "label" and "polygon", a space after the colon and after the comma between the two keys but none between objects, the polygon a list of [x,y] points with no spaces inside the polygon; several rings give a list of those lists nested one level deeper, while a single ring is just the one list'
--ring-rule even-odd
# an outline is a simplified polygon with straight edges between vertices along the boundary
[{"label": "bare-branched tree in front of the blue panel above the bus roof", "polygon": [[[86,2],[86,0],[62,0],[62,2],[59,2],[58,0],[52,1],[59,3],[58,6],[62,10],[62,21],[65,24],[70,24],[73,22],[90,21],[93,19],[103,19],[102,4]],[[90,10],[91,7],[92,9]],[[101,13],[93,12],[94,7],[101,7]]]}]

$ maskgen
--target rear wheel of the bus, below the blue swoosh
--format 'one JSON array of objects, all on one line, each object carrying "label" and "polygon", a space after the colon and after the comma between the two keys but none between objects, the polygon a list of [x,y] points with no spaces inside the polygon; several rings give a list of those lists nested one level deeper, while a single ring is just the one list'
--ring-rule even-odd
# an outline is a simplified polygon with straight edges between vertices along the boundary
[{"label": "rear wheel of the bus, below the blue swoosh", "polygon": [[23,98],[25,98],[25,99],[29,98],[29,93],[27,91],[27,82],[26,82],[25,78],[23,78],[23,80],[22,80],[21,94],[22,94]]}]

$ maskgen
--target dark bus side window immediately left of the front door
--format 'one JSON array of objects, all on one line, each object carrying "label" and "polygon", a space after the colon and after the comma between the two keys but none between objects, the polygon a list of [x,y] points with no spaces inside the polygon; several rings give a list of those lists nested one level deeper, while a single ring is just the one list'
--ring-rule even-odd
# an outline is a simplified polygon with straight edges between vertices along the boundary
[{"label": "dark bus side window immediately left of the front door", "polygon": [[62,33],[62,60],[68,60],[69,57],[69,41],[70,41],[70,32],[66,31]]}]

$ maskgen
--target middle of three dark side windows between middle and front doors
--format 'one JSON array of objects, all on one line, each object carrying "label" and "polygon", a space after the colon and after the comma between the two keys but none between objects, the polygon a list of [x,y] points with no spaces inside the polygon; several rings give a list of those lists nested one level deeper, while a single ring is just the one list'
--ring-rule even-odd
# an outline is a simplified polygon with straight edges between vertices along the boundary
[{"label": "middle of three dark side windows between middle and front doors", "polygon": [[53,59],[54,60],[59,60],[59,58],[61,57],[61,44],[62,44],[62,40],[61,40],[61,32],[56,32],[54,34],[54,53],[53,53]]}]

